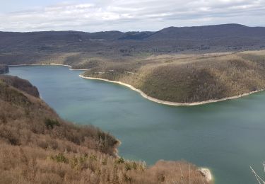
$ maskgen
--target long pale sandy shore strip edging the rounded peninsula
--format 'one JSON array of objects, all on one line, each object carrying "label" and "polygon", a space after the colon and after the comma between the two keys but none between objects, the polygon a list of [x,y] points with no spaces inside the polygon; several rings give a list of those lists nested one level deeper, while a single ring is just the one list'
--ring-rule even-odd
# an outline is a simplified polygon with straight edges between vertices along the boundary
[{"label": "long pale sandy shore strip edging the rounded peninsula", "polygon": [[99,81],[107,81],[107,82],[111,82],[111,83],[114,83],[114,84],[120,84],[122,86],[126,86],[128,88],[131,88],[131,90],[137,91],[138,93],[141,94],[141,96],[143,96],[143,98],[146,98],[146,99],[151,100],[151,101],[156,102],[156,103],[161,103],[161,104],[164,104],[164,105],[173,105],[173,106],[203,105],[203,104],[206,104],[206,103],[215,103],[215,102],[220,102],[220,101],[224,101],[224,100],[232,100],[232,99],[235,99],[235,98],[240,98],[240,97],[243,97],[243,96],[251,95],[253,93],[258,93],[258,92],[264,91],[264,89],[261,89],[261,90],[252,91],[252,92],[249,92],[249,93],[244,93],[244,94],[241,94],[241,95],[238,95],[238,96],[221,98],[221,99],[218,99],[218,100],[206,100],[206,101],[194,102],[194,103],[177,103],[177,102],[170,102],[170,101],[165,101],[165,100],[159,100],[157,98],[153,98],[151,96],[147,96],[146,93],[143,93],[143,91],[141,91],[141,90],[139,90],[137,88],[134,88],[134,86],[131,86],[130,84],[125,84],[125,83],[120,82],[120,81],[110,81],[108,79],[88,77],[88,76],[83,76],[82,74],[79,75],[79,76],[82,77],[83,79],[92,79],[92,80],[99,80]]}]

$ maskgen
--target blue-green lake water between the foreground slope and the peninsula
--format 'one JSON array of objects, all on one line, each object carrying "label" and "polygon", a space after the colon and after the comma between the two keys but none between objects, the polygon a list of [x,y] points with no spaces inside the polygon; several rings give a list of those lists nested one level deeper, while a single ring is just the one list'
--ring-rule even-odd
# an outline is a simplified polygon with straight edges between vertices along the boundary
[{"label": "blue-green lake water between the foreground slope and the peninsula", "polygon": [[67,67],[11,67],[66,120],[114,134],[126,159],[191,161],[216,183],[255,183],[265,159],[265,93],[192,107],[160,105],[118,84],[81,79]]}]

